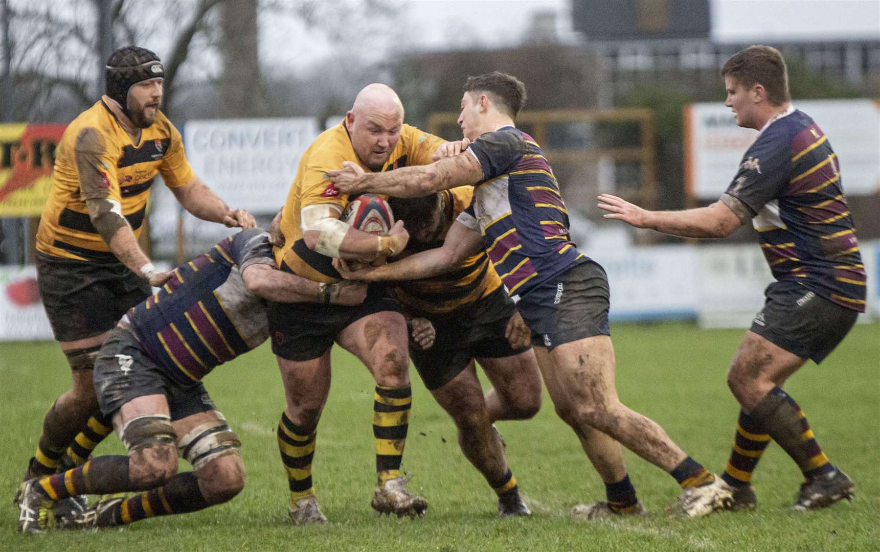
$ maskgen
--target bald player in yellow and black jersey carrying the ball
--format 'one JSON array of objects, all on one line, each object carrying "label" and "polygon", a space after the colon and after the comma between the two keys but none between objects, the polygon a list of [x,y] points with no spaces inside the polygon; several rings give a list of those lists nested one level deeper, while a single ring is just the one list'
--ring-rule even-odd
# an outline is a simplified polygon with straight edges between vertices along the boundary
[{"label": "bald player in yellow and black jersey carrying the ball", "polygon": [[[389,236],[374,236],[339,220],[348,195],[330,184],[327,172],[346,162],[363,171],[426,164],[433,156],[460,151],[460,146],[403,124],[400,98],[385,84],[365,87],[345,120],[320,134],[300,160],[282,209],[285,243],[275,250],[278,267],[329,284],[340,280],[334,258],[372,261],[400,253],[408,239],[400,223]],[[410,493],[400,477],[412,403],[407,323],[400,304],[382,286],[370,287],[367,299],[356,307],[270,302],[269,327],[287,396],[278,445],[290,484],[293,522],[325,520],[312,487],[312,457],[315,429],[330,388],[334,341],[355,354],[376,381],[378,482],[372,507],[398,515],[422,514],[427,503]]]}]

